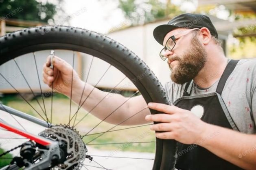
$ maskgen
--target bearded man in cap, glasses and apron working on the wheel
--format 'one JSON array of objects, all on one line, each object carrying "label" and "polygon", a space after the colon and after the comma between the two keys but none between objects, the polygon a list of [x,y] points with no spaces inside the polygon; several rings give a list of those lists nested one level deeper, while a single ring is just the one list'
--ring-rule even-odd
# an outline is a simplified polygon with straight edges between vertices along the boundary
[{"label": "bearded man in cap, glasses and apron working on the wheel", "polygon": [[[171,106],[149,103],[148,107],[163,114],[150,115],[145,109],[123,125],[157,121],[150,129],[161,139],[178,141],[177,164],[182,170],[256,169],[256,59],[230,60],[225,57],[218,34],[206,15],[182,14],[168,24],[155,28],[153,36],[164,46],[160,52],[167,59],[171,81],[165,85]],[[44,66],[44,83],[65,86],[58,92],[70,97],[72,67],[55,57],[54,71]],[[85,82],[75,73],[72,100],[79,103]],[[167,73],[166,73],[167,74]],[[83,104],[90,110],[107,92],[86,84]],[[127,99],[111,95],[92,114],[104,119],[116,104]],[[125,117],[142,110],[142,96],[131,98],[105,121],[118,124]],[[163,131],[163,132],[161,132]],[[245,154],[246,153],[246,154]]]}]

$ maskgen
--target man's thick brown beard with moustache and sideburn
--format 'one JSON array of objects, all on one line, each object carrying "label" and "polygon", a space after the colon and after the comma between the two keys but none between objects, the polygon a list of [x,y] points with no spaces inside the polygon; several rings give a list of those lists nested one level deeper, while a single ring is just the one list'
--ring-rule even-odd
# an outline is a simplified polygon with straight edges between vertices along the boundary
[{"label": "man's thick brown beard with moustache and sideburn", "polygon": [[178,61],[178,65],[171,69],[171,80],[177,84],[184,84],[194,79],[204,67],[207,53],[197,37],[194,36],[191,40],[191,47],[182,57],[173,56],[169,60]]}]

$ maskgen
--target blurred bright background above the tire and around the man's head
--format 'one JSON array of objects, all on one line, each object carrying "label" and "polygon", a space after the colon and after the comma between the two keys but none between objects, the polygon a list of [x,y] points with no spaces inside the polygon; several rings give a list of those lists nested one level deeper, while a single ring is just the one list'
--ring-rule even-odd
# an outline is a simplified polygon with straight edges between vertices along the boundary
[{"label": "blurred bright background above the tire and around the man's head", "polygon": [[0,35],[42,25],[100,32],[135,52],[164,84],[169,71],[153,29],[181,13],[208,15],[227,57],[256,57],[255,0],[0,0]]}]

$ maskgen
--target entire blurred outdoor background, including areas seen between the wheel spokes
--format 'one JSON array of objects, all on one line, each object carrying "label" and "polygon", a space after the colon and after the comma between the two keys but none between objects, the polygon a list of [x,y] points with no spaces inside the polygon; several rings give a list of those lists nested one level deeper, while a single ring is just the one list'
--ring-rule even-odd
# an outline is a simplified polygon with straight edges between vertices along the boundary
[{"label": "entire blurred outdoor background, including areas seen between the wheel spokes", "polygon": [[[28,27],[45,25],[65,25],[93,30],[109,36],[136,53],[164,85],[170,80],[170,71],[168,65],[159,57],[162,46],[153,38],[153,29],[161,24],[168,23],[170,19],[182,13],[208,15],[218,31],[219,40],[228,58],[256,57],[256,0],[0,0],[0,36]],[[41,34],[47,34],[47,32],[48,30],[43,30]],[[38,64],[39,75],[42,75],[42,66],[49,54],[50,50],[36,52],[37,62],[40,63]],[[70,56],[73,53],[71,51],[55,50],[55,55],[72,64],[72,57]],[[19,94],[17,94],[17,91],[0,77],[0,102],[38,117],[35,110],[31,109],[20,96],[23,96],[35,106],[37,105],[37,99],[41,102],[41,98],[45,98],[46,104],[50,106],[50,96],[53,94],[50,93],[51,89],[44,85],[42,80],[40,82],[44,96],[40,94],[41,87],[39,87],[38,81],[35,81],[37,77],[35,78],[35,74],[31,74],[31,72],[36,72],[37,69],[33,54],[26,54],[22,57],[27,60],[20,57],[16,60],[21,70],[17,68],[12,60],[0,67],[0,72],[19,91]],[[101,90],[110,91],[114,88],[116,82],[119,82],[123,77],[121,72],[113,68],[109,70],[100,83],[97,83],[109,65],[102,60],[95,59],[89,76],[88,68],[92,56],[75,52],[74,58],[74,69],[78,72],[80,78],[85,81],[89,77],[88,83],[97,85],[96,87]],[[26,75],[26,79],[36,96],[31,93],[21,72]],[[136,87],[128,80],[112,92],[123,96],[131,96],[136,93],[136,90]],[[54,94],[53,96],[55,106],[53,111],[57,113],[54,118],[58,122],[67,121],[67,110],[71,107],[69,98],[61,94]],[[40,109],[38,106],[36,107]],[[72,113],[76,111],[76,107],[77,105],[72,103]],[[49,113],[50,107],[48,109]],[[85,114],[87,114],[87,111],[81,109],[81,114],[77,117],[77,120],[83,119],[82,117]],[[1,119],[4,117],[8,122],[12,119],[8,117],[7,113],[1,112],[0,115],[2,116]],[[80,123],[77,127],[79,132],[87,132],[100,121],[92,115],[88,116],[88,120],[90,121],[87,123]],[[35,133],[42,131],[31,123],[23,122],[24,120],[20,121],[28,128],[33,127],[32,130]],[[95,132],[102,132],[109,127],[112,127],[112,125],[104,122]],[[1,137],[6,134],[6,131],[0,131]],[[90,140],[92,137],[89,136],[85,140]],[[155,135],[148,127],[143,126],[136,130],[125,131],[125,133],[120,131],[109,133],[101,140],[95,140],[95,143],[123,142],[124,140],[125,142],[154,141]],[[17,145],[16,143],[7,142],[3,137],[0,144],[4,150],[9,150]],[[123,156],[123,152],[129,151],[130,157],[153,158],[154,156],[155,143],[153,142],[123,146],[125,145],[115,147],[112,145],[107,145],[107,147],[95,145],[92,148],[95,149],[94,152],[101,151],[102,155]],[[92,148],[90,148],[91,151]],[[3,152],[2,149],[0,149],[0,153]],[[7,155],[7,157],[11,157],[11,155]],[[1,159],[0,166],[8,164],[9,161],[10,159]],[[104,164],[110,164],[109,167],[114,165],[107,159],[101,161]],[[152,161],[151,163],[146,162],[146,164],[141,161],[130,161],[126,162],[125,165],[115,164],[114,169],[142,170],[143,168],[150,169],[151,165]]]}]

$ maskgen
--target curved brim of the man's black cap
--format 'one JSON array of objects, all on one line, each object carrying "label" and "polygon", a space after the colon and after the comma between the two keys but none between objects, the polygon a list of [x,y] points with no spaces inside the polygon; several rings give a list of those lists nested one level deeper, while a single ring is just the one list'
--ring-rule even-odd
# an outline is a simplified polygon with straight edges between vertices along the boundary
[{"label": "curved brim of the man's black cap", "polygon": [[167,25],[167,24],[158,26],[154,29],[153,36],[159,44],[163,45],[164,37],[166,36],[166,34],[171,30],[174,30],[175,28],[180,28],[180,27]]}]

